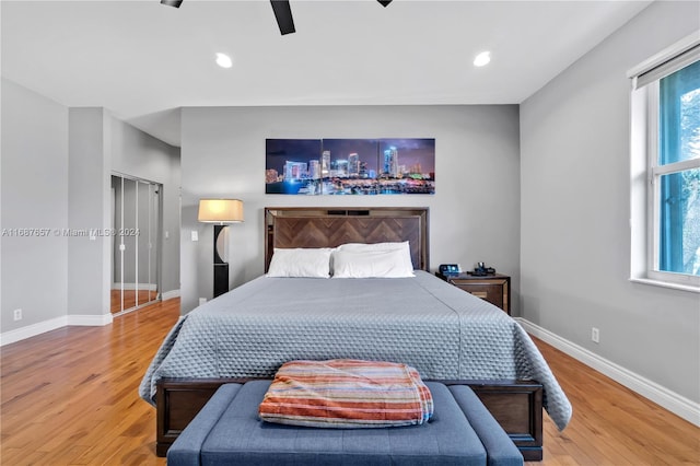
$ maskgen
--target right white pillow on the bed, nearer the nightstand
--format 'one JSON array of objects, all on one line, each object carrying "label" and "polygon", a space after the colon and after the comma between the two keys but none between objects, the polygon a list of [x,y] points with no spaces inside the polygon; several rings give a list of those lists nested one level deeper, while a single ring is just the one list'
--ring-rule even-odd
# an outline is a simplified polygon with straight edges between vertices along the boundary
[{"label": "right white pillow on the bed, nearer the nightstand", "polygon": [[[410,256],[408,264],[411,264]],[[395,251],[336,251],[334,278],[404,278],[415,277],[413,267],[407,266],[406,252]]]}]

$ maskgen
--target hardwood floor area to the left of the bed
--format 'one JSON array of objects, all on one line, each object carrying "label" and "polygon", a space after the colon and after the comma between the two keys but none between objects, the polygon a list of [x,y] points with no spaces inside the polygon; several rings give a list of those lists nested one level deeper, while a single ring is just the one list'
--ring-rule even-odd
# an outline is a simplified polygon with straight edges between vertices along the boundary
[{"label": "hardwood floor area to the left of the bed", "polygon": [[178,316],[170,300],[2,347],[0,463],[164,465],[138,386]]}]

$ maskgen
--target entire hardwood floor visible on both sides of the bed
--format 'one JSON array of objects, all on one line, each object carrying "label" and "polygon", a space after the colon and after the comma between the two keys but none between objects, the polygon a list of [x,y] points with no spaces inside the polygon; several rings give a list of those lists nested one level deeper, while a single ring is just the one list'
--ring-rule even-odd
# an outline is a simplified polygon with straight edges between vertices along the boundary
[{"label": "entire hardwood floor visible on both sides of the bed", "polygon": [[[170,300],[2,347],[0,464],[165,465],[138,386],[178,316]],[[545,461],[528,465],[700,465],[699,428],[536,342],[574,415],[563,432],[545,415]]]}]

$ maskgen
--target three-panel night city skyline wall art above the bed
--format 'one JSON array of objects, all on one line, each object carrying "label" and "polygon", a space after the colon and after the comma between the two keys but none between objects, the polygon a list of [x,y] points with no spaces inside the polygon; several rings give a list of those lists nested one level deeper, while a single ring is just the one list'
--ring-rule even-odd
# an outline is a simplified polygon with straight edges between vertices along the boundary
[{"label": "three-panel night city skyline wall art above the bed", "polygon": [[434,139],[267,139],[265,193],[435,194]]}]

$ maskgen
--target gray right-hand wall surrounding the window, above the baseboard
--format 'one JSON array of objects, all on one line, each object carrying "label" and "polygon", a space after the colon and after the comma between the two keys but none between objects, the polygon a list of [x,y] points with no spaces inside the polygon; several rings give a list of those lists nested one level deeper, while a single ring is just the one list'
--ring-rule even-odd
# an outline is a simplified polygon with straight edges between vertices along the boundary
[{"label": "gray right-hand wall surrounding the window, above the baseboard", "polygon": [[699,19],[698,2],[655,2],[521,106],[522,315],[696,403],[699,295],[628,281],[626,72]]}]

